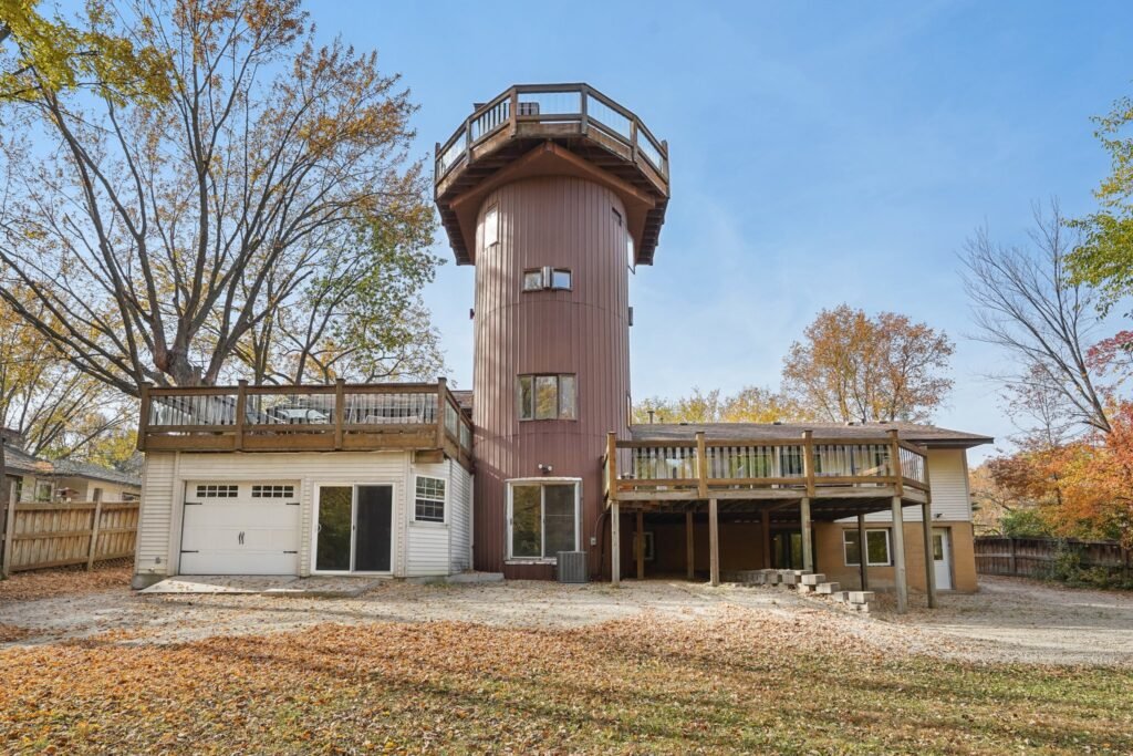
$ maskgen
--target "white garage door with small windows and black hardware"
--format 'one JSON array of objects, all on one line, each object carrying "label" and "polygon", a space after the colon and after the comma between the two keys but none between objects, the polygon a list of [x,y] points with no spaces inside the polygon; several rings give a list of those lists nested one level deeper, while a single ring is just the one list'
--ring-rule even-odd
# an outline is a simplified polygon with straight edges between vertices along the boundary
[{"label": "white garage door with small windows and black hardware", "polygon": [[299,485],[190,481],[181,575],[298,575]]}]

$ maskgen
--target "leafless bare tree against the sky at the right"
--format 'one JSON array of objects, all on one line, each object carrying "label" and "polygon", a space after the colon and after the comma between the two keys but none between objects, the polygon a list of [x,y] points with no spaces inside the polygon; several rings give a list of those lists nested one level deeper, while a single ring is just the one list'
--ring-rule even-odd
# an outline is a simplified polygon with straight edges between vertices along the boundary
[{"label": "leafless bare tree against the sky at the right", "polygon": [[1004,245],[983,228],[968,240],[962,262],[976,337],[1010,355],[1016,368],[998,377],[1016,400],[1030,401],[1037,419],[1070,418],[1108,433],[1105,390],[1089,358],[1100,322],[1093,291],[1066,267],[1077,233],[1051,203],[1049,213],[1034,209],[1029,239],[1025,247]]}]

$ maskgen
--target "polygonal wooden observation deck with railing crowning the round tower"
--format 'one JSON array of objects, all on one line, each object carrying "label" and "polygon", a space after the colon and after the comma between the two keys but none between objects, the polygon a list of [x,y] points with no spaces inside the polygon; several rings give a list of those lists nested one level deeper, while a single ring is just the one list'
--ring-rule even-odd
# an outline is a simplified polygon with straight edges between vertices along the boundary
[{"label": "polygonal wooden observation deck with railing crowning the round tower", "polygon": [[476,199],[504,180],[548,173],[616,190],[636,261],[653,263],[668,204],[668,144],[587,84],[512,86],[477,104],[435,156],[436,204],[458,264],[475,262]]}]

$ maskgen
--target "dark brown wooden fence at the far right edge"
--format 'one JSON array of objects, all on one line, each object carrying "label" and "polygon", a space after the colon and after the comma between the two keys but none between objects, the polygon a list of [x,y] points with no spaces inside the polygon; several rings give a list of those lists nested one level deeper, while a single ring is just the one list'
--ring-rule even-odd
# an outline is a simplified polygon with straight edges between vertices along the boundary
[{"label": "dark brown wooden fence at the far right edge", "polygon": [[1059,550],[1074,550],[1084,569],[1102,568],[1128,580],[1133,574],[1133,552],[1113,541],[1076,541],[1068,538],[976,538],[976,571],[980,575],[1043,577]]}]

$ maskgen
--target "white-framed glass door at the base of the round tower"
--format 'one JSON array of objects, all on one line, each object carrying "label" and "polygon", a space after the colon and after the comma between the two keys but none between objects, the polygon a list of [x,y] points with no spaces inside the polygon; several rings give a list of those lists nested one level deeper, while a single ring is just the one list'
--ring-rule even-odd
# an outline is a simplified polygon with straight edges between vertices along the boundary
[{"label": "white-framed glass door at the base of the round tower", "polygon": [[554,559],[578,551],[578,483],[509,483],[510,559]]}]

